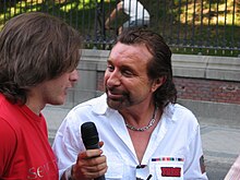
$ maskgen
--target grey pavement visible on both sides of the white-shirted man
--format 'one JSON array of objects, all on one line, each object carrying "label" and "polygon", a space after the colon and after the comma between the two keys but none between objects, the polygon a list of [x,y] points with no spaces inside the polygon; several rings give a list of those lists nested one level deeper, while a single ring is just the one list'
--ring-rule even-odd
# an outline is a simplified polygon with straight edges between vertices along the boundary
[{"label": "grey pavement visible on both sides of the white-shirted man", "polygon": [[[43,112],[48,122],[50,142],[52,142],[55,133],[68,111],[69,109],[56,107],[44,109]],[[217,120],[197,119],[201,124],[208,179],[224,180],[227,171],[240,154],[240,125],[227,127],[217,124]]]}]

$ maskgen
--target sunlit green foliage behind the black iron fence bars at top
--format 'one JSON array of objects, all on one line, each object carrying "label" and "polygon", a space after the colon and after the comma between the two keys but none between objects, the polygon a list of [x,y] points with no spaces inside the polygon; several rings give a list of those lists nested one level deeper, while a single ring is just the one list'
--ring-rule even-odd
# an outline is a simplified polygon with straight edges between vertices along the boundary
[{"label": "sunlit green foliage behind the black iron fence bars at top", "polygon": [[[97,0],[100,2],[100,0]],[[140,0],[151,13],[149,28],[163,35],[173,52],[216,56],[240,55],[240,8],[231,0]],[[87,48],[111,48],[117,31],[128,20],[122,13],[103,36],[103,22],[118,0],[105,0],[96,14],[96,0],[0,0],[0,27],[23,12],[41,11],[57,15],[79,29]],[[193,3],[195,2],[195,3]],[[227,2],[227,5],[225,4]],[[98,5],[98,7],[97,7]],[[103,10],[103,9],[101,9]],[[98,22],[95,22],[98,19]],[[105,45],[103,45],[103,43]]]}]

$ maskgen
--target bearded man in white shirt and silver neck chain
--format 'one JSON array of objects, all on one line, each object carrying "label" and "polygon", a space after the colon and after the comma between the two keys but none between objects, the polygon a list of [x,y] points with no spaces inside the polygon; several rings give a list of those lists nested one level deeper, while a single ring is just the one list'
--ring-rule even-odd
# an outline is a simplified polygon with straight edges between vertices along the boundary
[{"label": "bearded man in white shirt and silver neck chain", "polygon": [[[105,94],[74,107],[53,151],[64,179],[206,180],[200,124],[177,104],[171,51],[152,31],[123,31],[110,51]],[[85,149],[81,128],[94,122],[100,149]]]}]

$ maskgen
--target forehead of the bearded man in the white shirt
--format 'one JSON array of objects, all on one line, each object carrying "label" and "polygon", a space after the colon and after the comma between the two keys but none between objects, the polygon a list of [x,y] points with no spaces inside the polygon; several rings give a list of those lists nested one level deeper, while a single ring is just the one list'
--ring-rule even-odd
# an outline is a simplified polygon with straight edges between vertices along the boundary
[{"label": "forehead of the bearded man in the white shirt", "polygon": [[118,43],[112,48],[109,60],[119,63],[133,62],[146,64],[153,58],[145,45],[124,45]]}]

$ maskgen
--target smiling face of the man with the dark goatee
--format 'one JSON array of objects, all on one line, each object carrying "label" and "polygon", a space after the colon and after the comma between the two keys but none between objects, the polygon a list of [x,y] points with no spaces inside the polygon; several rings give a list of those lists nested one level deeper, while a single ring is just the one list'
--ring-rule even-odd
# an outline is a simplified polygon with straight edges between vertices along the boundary
[{"label": "smiling face of the man with the dark goatee", "polygon": [[118,43],[111,50],[105,72],[108,106],[120,110],[149,101],[154,82],[147,76],[153,58],[144,45]]}]

